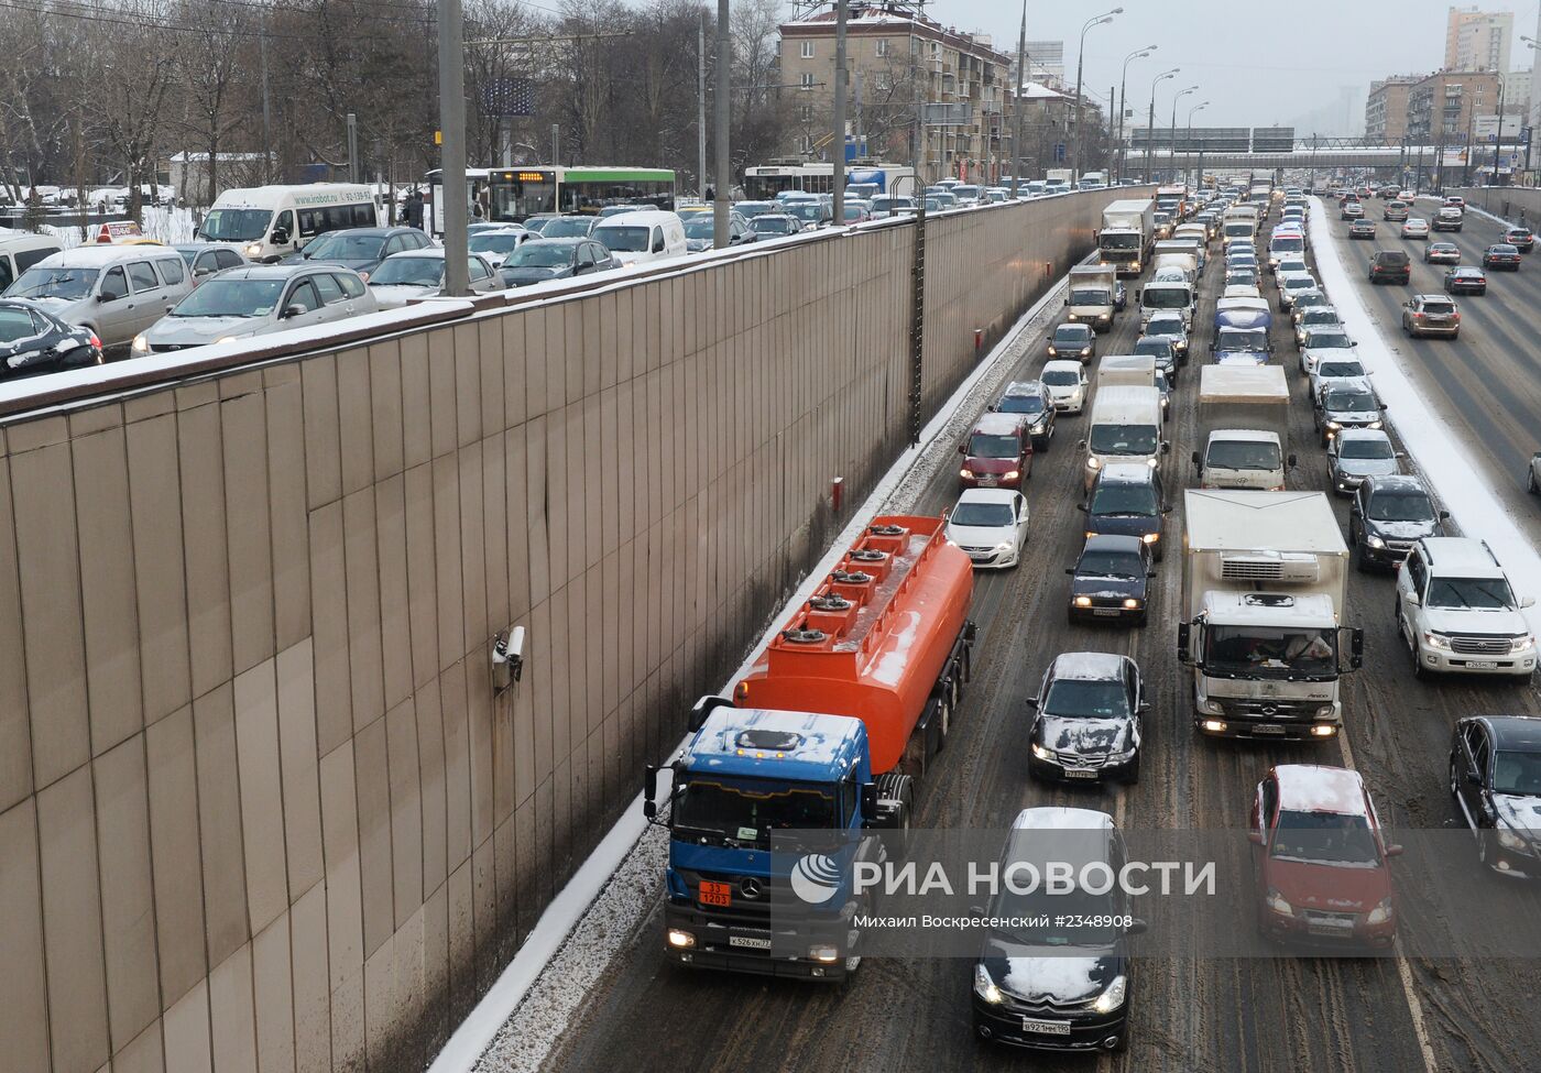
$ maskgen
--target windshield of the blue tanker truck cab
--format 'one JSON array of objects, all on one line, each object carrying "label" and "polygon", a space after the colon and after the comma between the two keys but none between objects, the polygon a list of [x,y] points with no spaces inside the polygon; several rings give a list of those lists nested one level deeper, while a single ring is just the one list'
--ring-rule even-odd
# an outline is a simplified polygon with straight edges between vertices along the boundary
[{"label": "windshield of the blue tanker truck cab", "polygon": [[831,786],[690,779],[673,806],[673,829],[726,842],[766,842],[772,831],[835,826]]}]

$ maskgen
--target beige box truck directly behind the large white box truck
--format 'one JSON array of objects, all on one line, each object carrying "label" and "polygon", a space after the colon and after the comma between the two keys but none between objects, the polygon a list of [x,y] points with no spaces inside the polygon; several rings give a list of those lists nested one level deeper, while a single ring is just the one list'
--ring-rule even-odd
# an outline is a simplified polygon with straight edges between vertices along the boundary
[{"label": "beige box truck directly behind the large white box truck", "polygon": [[[1106,359],[1103,359],[1106,361]],[[1282,492],[1290,453],[1290,387],[1279,365],[1199,370],[1199,435],[1193,466],[1204,489]]]}]

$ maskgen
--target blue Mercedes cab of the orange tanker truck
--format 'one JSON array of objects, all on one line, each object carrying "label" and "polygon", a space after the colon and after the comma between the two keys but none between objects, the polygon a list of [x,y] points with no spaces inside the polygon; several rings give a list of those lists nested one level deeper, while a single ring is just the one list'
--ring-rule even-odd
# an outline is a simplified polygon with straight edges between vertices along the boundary
[{"label": "blue Mercedes cab of the orange tanker truck", "polygon": [[[663,769],[672,775],[667,817],[653,800],[658,768],[647,769],[643,794],[647,819],[669,826],[669,959],[844,979],[861,960],[851,865],[901,851],[894,837],[908,836],[909,780],[874,783],[860,718],[703,697],[690,725],[686,748]],[[795,851],[789,839],[803,832],[817,836],[821,853]],[[807,891],[826,897],[809,902]]]}]

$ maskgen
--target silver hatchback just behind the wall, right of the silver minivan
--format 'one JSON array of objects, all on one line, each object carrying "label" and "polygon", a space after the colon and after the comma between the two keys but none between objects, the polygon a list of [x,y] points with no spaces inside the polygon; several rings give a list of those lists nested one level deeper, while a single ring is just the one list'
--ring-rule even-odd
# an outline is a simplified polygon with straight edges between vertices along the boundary
[{"label": "silver hatchback just behind the wall, right of the silver minivan", "polygon": [[248,265],[205,281],[134,339],[134,355],[305,328],[373,313],[374,296],[341,265]]}]

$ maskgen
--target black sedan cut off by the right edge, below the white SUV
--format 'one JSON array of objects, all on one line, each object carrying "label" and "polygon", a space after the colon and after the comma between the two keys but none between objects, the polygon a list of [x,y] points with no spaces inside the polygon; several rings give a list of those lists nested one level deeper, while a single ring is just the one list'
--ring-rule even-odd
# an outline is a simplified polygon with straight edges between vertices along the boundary
[{"label": "black sedan cut off by the right edge, below the white SUV", "polygon": [[1541,718],[1473,715],[1450,740],[1450,797],[1499,876],[1541,877]]}]

